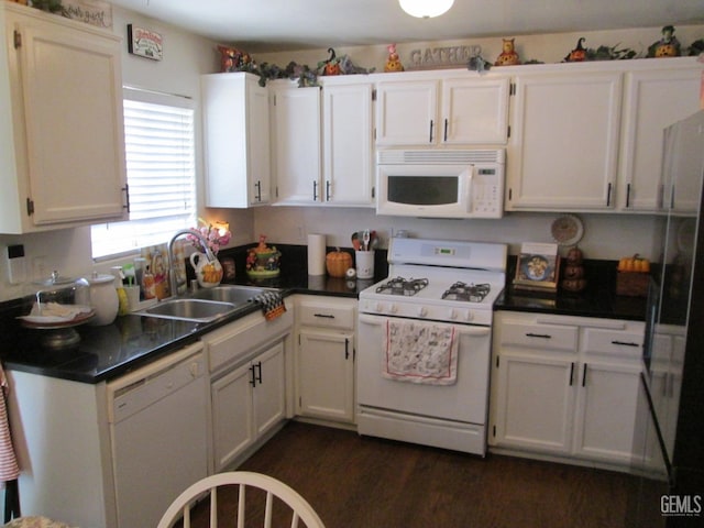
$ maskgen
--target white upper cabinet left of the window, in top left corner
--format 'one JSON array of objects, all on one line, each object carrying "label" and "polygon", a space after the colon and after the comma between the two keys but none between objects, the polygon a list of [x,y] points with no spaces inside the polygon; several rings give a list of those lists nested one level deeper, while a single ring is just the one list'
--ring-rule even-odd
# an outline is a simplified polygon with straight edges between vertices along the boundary
[{"label": "white upper cabinet left of the window, in top left corner", "polygon": [[0,232],[124,218],[120,38],[2,2]]}]

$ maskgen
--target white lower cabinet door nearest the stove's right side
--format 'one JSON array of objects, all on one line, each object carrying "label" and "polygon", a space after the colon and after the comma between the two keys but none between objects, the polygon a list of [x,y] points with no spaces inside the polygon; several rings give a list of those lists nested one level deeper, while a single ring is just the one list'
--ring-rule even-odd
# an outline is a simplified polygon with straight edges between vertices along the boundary
[{"label": "white lower cabinet door nearest the stove's right side", "polygon": [[498,387],[492,443],[569,453],[574,363],[502,353],[494,369]]}]

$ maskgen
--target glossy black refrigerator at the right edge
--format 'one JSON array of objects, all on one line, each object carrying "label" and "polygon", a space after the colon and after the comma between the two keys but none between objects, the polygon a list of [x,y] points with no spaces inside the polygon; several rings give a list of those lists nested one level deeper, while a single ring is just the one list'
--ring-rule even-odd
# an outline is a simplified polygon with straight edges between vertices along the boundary
[{"label": "glossy black refrigerator at the right edge", "polygon": [[704,111],[664,131],[632,526],[704,527]]}]

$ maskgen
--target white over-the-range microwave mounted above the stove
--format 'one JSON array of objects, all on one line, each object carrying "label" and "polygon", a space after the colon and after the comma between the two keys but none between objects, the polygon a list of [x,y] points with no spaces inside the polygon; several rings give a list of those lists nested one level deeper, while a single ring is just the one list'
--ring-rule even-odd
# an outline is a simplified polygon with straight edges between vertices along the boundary
[{"label": "white over-the-range microwave mounted above the stove", "polygon": [[376,212],[502,218],[506,151],[385,150],[376,160]]}]

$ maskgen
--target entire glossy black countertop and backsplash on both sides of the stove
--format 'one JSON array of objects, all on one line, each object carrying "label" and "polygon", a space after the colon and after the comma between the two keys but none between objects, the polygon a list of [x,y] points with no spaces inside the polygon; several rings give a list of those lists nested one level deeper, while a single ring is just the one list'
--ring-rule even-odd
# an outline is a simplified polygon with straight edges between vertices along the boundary
[{"label": "entire glossy black countertop and backsplash on both sides of the stove", "polygon": [[[370,280],[348,280],[328,276],[309,276],[305,246],[279,245],[282,273],[279,277],[252,282],[244,273],[245,249],[221,252],[235,261],[233,284],[279,288],[292,294],[327,295],[358,298],[360,292],[388,274],[386,252],[377,251],[376,277]],[[351,251],[351,250],[350,250]],[[512,262],[507,276],[512,275]],[[614,292],[615,263],[588,263],[590,286],[580,294],[559,292],[553,296],[517,292],[512,286],[498,298],[496,310],[517,310],[612,319],[645,320],[646,299],[617,297]],[[510,284],[510,280],[508,280]],[[30,304],[28,306],[28,302]],[[246,307],[213,323],[195,323],[142,317],[121,316],[112,324],[77,327],[80,342],[64,350],[47,349],[41,343],[41,330],[25,329],[15,319],[29,312],[32,299],[16,299],[0,304],[0,331],[6,336],[0,356],[7,369],[31,372],[81,383],[109,381],[176,349],[195,342],[206,332],[258,310]]]}]

